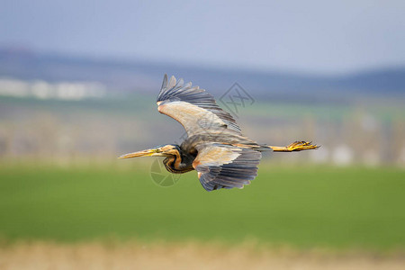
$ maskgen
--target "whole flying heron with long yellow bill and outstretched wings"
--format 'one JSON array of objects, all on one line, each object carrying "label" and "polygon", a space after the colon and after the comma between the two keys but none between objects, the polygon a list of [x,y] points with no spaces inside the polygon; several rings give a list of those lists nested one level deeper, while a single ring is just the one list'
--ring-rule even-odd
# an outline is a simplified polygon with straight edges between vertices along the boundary
[{"label": "whole flying heron with long yellow bill and outstretched wings", "polygon": [[196,170],[207,191],[242,188],[257,176],[261,152],[293,152],[319,148],[311,142],[295,141],[286,147],[258,144],[243,136],[237,122],[223,111],[211,94],[199,86],[164,76],[157,95],[157,111],[179,121],[187,132],[181,145],[167,144],[122,155],[129,157],[166,157],[167,171],[183,174]]}]

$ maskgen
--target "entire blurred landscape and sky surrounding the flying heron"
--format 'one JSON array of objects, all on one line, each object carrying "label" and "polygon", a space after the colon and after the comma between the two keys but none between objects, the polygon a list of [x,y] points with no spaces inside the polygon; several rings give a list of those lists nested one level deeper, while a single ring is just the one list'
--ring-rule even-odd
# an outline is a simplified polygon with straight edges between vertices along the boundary
[{"label": "entire blurred landscape and sky surrounding the flying heron", "polygon": [[[373,269],[373,253],[401,268],[404,12],[0,0],[0,266]],[[213,94],[251,139],[322,147],[266,155],[243,190],[206,193],[195,173],[162,187],[154,158],[116,157],[184,138],[157,112],[164,74]]]}]

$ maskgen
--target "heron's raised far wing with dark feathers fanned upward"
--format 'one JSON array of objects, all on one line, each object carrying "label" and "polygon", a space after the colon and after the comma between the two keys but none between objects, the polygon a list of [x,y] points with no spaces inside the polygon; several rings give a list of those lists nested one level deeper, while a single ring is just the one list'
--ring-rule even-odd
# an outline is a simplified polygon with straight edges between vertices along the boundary
[{"label": "heron's raised far wing with dark feathers fanned upward", "polygon": [[183,79],[178,82],[175,76],[167,81],[165,75],[162,88],[157,96],[157,110],[176,121],[179,121],[189,137],[203,130],[227,129],[240,134],[238,124],[229,114],[223,111],[211,94],[192,86],[184,85]]}]

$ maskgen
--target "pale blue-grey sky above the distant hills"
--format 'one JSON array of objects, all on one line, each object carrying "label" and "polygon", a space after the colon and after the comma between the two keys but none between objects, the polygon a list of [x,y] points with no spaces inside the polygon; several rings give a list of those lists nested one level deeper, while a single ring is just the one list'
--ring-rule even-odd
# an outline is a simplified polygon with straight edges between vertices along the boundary
[{"label": "pale blue-grey sky above the distant hills", "polygon": [[0,0],[0,46],[346,73],[405,65],[405,1]]}]

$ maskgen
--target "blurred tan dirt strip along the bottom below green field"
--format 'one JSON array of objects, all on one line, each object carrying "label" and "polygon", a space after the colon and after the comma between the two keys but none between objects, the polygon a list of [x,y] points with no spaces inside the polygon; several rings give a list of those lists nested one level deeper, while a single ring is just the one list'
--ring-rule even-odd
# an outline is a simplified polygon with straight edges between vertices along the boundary
[{"label": "blurred tan dirt strip along the bottom below green field", "polygon": [[0,247],[0,269],[405,269],[403,254],[297,251],[195,243],[20,242]]}]

